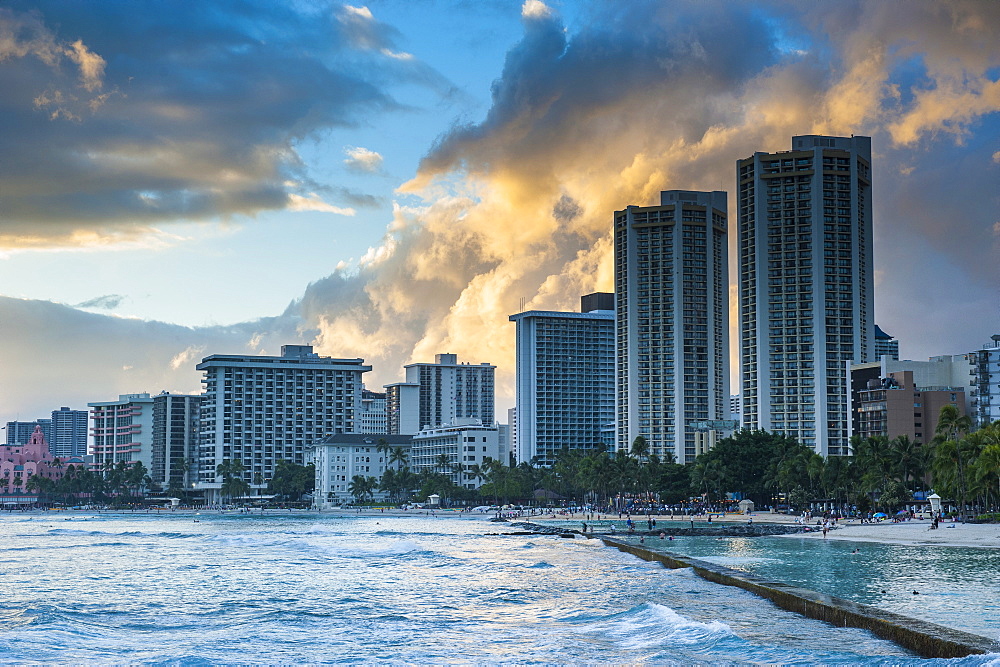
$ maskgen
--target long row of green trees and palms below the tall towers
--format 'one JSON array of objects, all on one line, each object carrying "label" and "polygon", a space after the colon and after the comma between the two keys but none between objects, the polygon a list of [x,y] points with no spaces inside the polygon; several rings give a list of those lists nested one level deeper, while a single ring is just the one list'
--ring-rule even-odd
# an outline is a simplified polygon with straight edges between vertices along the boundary
[{"label": "long row of green trees and palms below the tall towers", "polygon": [[[362,503],[382,491],[397,503],[423,501],[433,493],[466,504],[573,501],[605,506],[617,499],[711,504],[739,494],[758,507],[797,510],[822,502],[888,513],[912,502],[914,493],[934,489],[963,514],[1000,507],[1000,422],[974,430],[971,419],[949,405],[942,408],[935,436],[926,444],[906,436],[855,436],[851,445],[850,456],[823,457],[783,434],[744,429],[689,465],[669,454],[649,453],[648,443],[639,437],[628,451],[615,454],[566,447],[547,467],[492,459],[463,466],[442,454],[434,466],[414,472],[403,448],[382,442],[379,451],[388,456],[389,468],[381,480],[355,476],[349,492]],[[453,481],[456,476],[482,485],[467,489]]]}]

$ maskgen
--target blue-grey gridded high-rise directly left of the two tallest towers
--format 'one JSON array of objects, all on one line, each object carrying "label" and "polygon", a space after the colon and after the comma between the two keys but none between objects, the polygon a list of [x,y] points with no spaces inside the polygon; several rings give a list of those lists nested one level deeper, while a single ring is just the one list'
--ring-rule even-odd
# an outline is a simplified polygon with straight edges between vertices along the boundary
[{"label": "blue-grey gridded high-rise directly left of the two tallest towers", "polygon": [[[598,296],[603,296],[601,301]],[[529,310],[517,324],[518,462],[552,465],[563,447],[604,451],[615,421],[613,294],[590,294],[580,313]]]}]

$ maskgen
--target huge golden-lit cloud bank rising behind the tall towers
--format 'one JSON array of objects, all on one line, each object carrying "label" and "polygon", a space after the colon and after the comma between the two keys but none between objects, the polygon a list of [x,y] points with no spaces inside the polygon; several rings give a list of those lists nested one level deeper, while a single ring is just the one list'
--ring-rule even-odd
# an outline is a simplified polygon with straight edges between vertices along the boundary
[{"label": "huge golden-lit cloud bank rising behind the tall towers", "polygon": [[[369,253],[377,261],[311,285],[301,316],[317,324],[321,349],[372,360],[373,377],[398,379],[402,363],[448,350],[500,364],[509,393],[507,316],[521,299],[575,309],[579,295],[610,291],[613,211],[654,203],[662,189],[732,193],[738,158],[787,150],[795,134],[859,133],[876,149],[879,321],[916,331],[914,313],[970,321],[967,309],[981,307],[993,316],[921,330],[910,348],[972,349],[998,324],[992,297],[974,295],[1000,284],[998,194],[983,168],[1000,138],[989,94],[1000,54],[988,47],[1000,15],[986,3],[917,2],[900,20],[892,7],[602,5],[570,33],[526,3],[485,117],[442,136],[400,188],[426,206],[397,207]],[[779,48],[776,23],[797,48]],[[925,91],[966,104],[948,112]],[[973,150],[956,143],[968,133]],[[735,231],[732,197],[730,216]],[[915,268],[928,253],[945,273]],[[968,298],[930,309],[919,293],[938,294],[940,275]]]}]

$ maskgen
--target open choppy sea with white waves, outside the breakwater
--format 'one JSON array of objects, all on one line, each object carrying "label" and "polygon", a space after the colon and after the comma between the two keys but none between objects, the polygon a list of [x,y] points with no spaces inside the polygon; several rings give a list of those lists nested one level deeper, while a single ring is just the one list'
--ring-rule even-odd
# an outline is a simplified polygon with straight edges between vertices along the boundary
[{"label": "open choppy sea with white waves, outside the breakwater", "polygon": [[197,519],[0,519],[0,663],[1000,664],[922,661],[597,540],[442,517]]}]

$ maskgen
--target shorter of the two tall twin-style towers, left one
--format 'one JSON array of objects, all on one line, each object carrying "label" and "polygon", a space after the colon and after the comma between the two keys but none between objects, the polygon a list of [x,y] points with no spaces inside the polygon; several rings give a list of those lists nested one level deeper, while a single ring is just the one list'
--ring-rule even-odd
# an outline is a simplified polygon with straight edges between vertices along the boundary
[{"label": "shorter of the two tall twin-style towers, left one", "polygon": [[693,424],[729,416],[725,192],[668,190],[615,212],[618,448],[694,460]]}]

